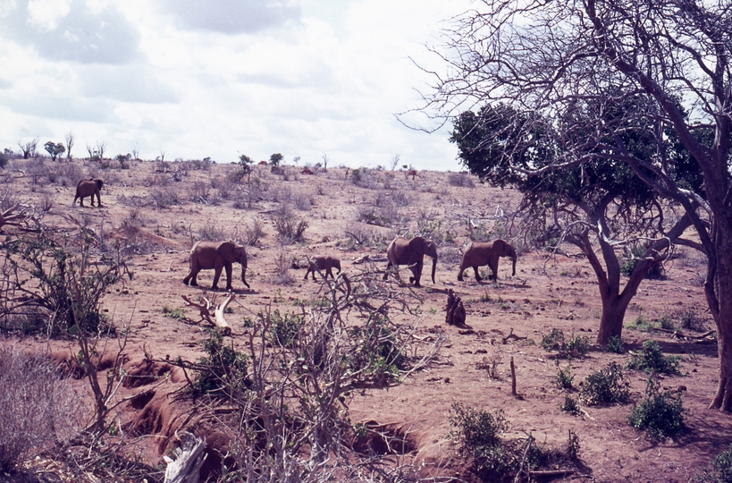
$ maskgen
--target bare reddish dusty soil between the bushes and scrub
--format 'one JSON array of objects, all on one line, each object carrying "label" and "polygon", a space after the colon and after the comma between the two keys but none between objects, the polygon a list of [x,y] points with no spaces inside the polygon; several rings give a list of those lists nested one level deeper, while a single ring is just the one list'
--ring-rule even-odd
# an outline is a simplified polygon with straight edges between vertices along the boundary
[{"label": "bare reddish dusty soil between the bushes and scrub", "polygon": [[[136,374],[145,376],[161,370],[145,365],[145,353],[156,360],[179,356],[195,360],[202,355],[199,343],[205,333],[202,326],[191,323],[198,320],[198,311],[186,308],[181,300],[181,295],[198,299],[203,293],[201,288],[181,284],[188,273],[188,250],[201,237],[246,241],[247,230],[255,220],[264,229],[261,240],[248,248],[251,290],[244,290],[239,267],[234,267],[238,298],[231,304],[233,313],[227,320],[233,328],[231,340],[243,350],[248,342],[244,318],[253,317],[265,306],[291,309],[292,300],[307,300],[319,287],[312,280],[302,280],[305,269],[290,269],[292,282],[283,283],[287,277],[278,267],[289,265],[292,258],[332,255],[341,258],[346,273],[355,273],[364,267],[354,263],[358,258],[369,255],[385,259],[385,244],[393,236],[414,233],[418,226],[431,223],[433,233],[442,239],[441,259],[435,284],[428,279],[431,263],[425,260],[424,288],[418,289],[424,301],[418,318],[425,333],[444,331],[448,342],[429,369],[410,375],[401,386],[388,391],[356,394],[350,402],[354,423],[374,420],[406,432],[414,451],[404,458],[423,464],[425,475],[458,473],[467,478],[455,447],[446,439],[454,402],[504,411],[510,423],[507,438],[531,433],[540,443],[560,446],[566,443],[568,431],[575,431],[585,467],[566,477],[568,480],[688,481],[732,441],[729,415],[707,409],[718,377],[716,345],[678,341],[668,333],[650,334],[635,328],[637,318],[652,321],[662,316],[678,326],[680,314],[688,309],[694,309],[699,318],[708,318],[700,284],[703,259],[691,251],[678,250],[680,257],[666,264],[664,279],[644,281],[626,316],[623,338],[631,351],[653,338],[664,352],[680,355],[683,360],[684,375],[665,377],[662,384],[669,388],[686,386],[683,402],[688,430],[676,439],[654,443],[628,425],[630,404],[585,407],[585,413],[577,417],[559,409],[566,393],[554,383],[556,354],[543,350],[542,337],[551,328],[559,328],[565,335],[586,335],[594,343],[601,311],[594,275],[586,260],[576,256],[576,250],[561,246],[560,253],[550,257],[545,250],[524,247],[516,276],[510,276],[510,264],[504,258],[497,285],[477,284],[468,272],[466,282],[457,281],[459,250],[468,242],[468,219],[482,225],[484,232],[498,231],[501,213],[517,207],[514,191],[477,183],[453,186],[450,181],[457,183],[457,175],[449,173],[422,172],[412,180],[400,172],[370,170],[361,173],[361,184],[356,185],[353,170],[345,168],[309,175],[301,174],[301,168],[287,166],[283,175],[275,175],[268,166],[256,166],[254,177],[261,192],[252,208],[246,208],[240,186],[226,181],[226,175],[237,169],[235,165],[194,169],[195,165],[185,163],[131,162],[130,169],[122,170],[113,163],[112,168],[103,170],[80,160],[72,167],[66,161],[52,165],[48,160],[45,164],[14,160],[0,172],[0,181],[2,190],[7,188],[9,193],[7,200],[50,206],[46,223],[69,225],[66,217],[72,217],[94,228],[109,246],[115,242],[136,245],[137,253],[128,264],[133,279],[103,300],[115,320],[131,319],[126,350],[130,372],[137,369]],[[71,207],[74,186],[81,176],[105,180],[103,208]],[[285,203],[296,216],[307,219],[307,242],[278,242],[272,214]],[[364,214],[383,216],[391,226],[359,222],[359,218],[366,219]],[[354,246],[349,233],[375,241],[366,247]],[[383,270],[385,261],[374,267]],[[401,272],[406,278],[405,267]],[[201,272],[201,287],[210,286],[212,276],[212,271]],[[469,330],[444,323],[446,291],[450,288],[465,303]],[[183,309],[188,320],[165,317],[164,307]],[[706,324],[711,328],[711,320]],[[526,339],[504,343],[511,331]],[[21,343],[45,347],[44,342],[30,338]],[[58,353],[73,352],[68,343],[51,345]],[[571,361],[575,384],[612,360],[625,365],[629,357],[628,353],[618,355],[593,346],[586,357]],[[511,359],[516,364],[520,399],[511,395]],[[484,369],[490,360],[500,361],[497,378],[491,378],[490,371]],[[562,361],[561,365],[565,364]],[[638,401],[647,377],[635,371],[627,374],[633,400]],[[132,394],[146,384],[145,379],[137,381],[120,395]],[[168,407],[172,402],[166,397],[182,383],[180,374],[173,374],[168,386],[157,386],[153,396],[122,406],[120,418],[128,424],[126,428],[131,424],[139,433],[167,436],[151,437],[155,443],[141,444],[141,454],[152,465],[162,461],[168,437],[182,424],[176,416],[180,408]]]}]

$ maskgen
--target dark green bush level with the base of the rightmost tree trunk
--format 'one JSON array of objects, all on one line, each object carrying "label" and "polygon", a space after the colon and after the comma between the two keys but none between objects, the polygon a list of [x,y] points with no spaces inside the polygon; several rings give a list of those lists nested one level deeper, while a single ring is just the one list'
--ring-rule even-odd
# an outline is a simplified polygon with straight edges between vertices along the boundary
[{"label": "dark green bush level with the base of the rightmost tree trunk", "polygon": [[627,417],[633,428],[643,429],[646,436],[663,440],[684,431],[684,409],[681,394],[660,392],[660,384],[651,377],[643,401],[635,404]]}]

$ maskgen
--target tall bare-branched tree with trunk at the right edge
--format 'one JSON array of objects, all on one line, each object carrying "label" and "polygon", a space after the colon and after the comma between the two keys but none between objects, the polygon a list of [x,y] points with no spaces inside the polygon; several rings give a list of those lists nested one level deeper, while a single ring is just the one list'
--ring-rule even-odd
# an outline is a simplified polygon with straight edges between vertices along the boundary
[{"label": "tall bare-branched tree with trunk at the right edge", "polygon": [[[450,68],[436,73],[425,108],[449,119],[476,104],[502,102],[553,119],[579,106],[586,114],[577,117],[581,123],[552,123],[560,156],[523,174],[573,169],[602,156],[625,163],[685,209],[708,258],[704,292],[717,326],[719,386],[711,407],[732,411],[729,1],[483,0],[446,35],[447,48],[435,52]],[[624,111],[622,122],[607,122],[602,108],[584,108],[610,100],[608,106],[627,106],[628,99],[636,107]],[[637,155],[621,134],[644,119],[649,137],[676,133],[703,183],[694,187],[673,175],[684,168],[664,143],[651,156]]]}]

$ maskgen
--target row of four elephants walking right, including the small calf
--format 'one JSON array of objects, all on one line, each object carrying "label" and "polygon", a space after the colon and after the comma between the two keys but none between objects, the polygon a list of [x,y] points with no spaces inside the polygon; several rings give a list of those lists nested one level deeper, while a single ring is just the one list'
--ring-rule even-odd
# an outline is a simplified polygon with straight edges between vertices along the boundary
[{"label": "row of four elephants walking right, including the small calf", "polygon": [[[412,276],[409,277],[409,283],[420,287],[420,279],[422,277],[422,268],[424,266],[425,255],[433,259],[432,262],[432,282],[434,281],[434,272],[437,269],[437,246],[431,240],[426,240],[421,236],[416,236],[408,240],[402,236],[395,238],[387,247],[386,255],[389,262],[386,266],[386,273],[383,279],[389,276],[391,267],[406,265],[411,271]],[[498,260],[501,257],[509,257],[513,261],[512,275],[516,275],[516,249],[512,245],[503,240],[495,240],[493,242],[471,242],[467,245],[460,261],[458,280],[463,280],[463,272],[473,267],[475,271],[475,281],[480,282],[481,276],[478,275],[478,267],[487,265],[491,268],[492,274],[490,279],[498,280]],[[226,290],[231,289],[231,270],[232,264],[238,262],[241,265],[241,282],[249,288],[246,279],[247,272],[247,251],[243,246],[234,242],[197,242],[190,250],[190,271],[183,279],[183,284],[198,286],[197,277],[201,270],[214,269],[214,284],[212,288],[218,289],[219,278],[222,270],[226,272]],[[308,260],[307,275],[312,274],[313,280],[316,280],[316,271],[325,272],[324,277],[330,275],[334,278],[332,268],[338,269],[341,273],[341,260],[333,257],[314,257]]]}]

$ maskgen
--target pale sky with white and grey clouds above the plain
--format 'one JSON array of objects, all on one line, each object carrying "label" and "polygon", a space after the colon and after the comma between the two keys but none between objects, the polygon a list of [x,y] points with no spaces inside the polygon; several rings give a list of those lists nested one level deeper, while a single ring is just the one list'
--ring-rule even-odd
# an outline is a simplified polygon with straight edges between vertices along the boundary
[{"label": "pale sky with white and grey clouds above the plain", "polygon": [[[444,69],[469,0],[0,0],[0,149],[458,170],[446,129],[394,114]],[[407,122],[412,122],[406,118]],[[429,127],[423,120],[418,123]]]}]

